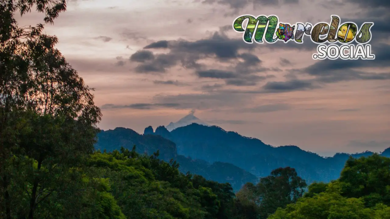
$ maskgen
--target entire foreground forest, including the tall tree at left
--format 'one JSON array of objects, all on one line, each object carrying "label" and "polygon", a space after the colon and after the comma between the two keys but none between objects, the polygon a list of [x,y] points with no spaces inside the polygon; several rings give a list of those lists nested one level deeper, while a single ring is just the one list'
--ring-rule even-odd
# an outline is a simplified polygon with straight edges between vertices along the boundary
[{"label": "entire foreground forest, including the tall tree at left", "polygon": [[32,10],[52,24],[66,4],[0,4],[0,218],[390,219],[390,159],[378,154],[351,157],[328,184],[281,167],[234,194],[159,151],[94,150],[102,115],[93,89],[44,25],[18,26],[15,14]]}]

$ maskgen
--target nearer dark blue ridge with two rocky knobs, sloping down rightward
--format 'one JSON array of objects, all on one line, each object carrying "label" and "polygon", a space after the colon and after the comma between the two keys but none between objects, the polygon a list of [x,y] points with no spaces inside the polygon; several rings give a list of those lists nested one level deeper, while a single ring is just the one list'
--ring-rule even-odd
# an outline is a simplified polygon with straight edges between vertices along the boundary
[{"label": "nearer dark blue ridge with two rocky knobs, sloping down rightward", "polygon": [[[177,155],[176,144],[168,138],[172,138],[170,132],[164,127],[159,126],[153,132],[151,126],[147,127],[141,135],[132,129],[122,127],[114,130],[101,131],[97,134],[96,150],[119,150],[121,147],[131,150],[136,145],[138,153],[151,155],[157,150],[160,151],[160,159],[170,161],[174,159],[179,163],[179,170],[182,173],[190,171],[191,174],[197,174],[208,180],[214,180],[220,183],[229,182],[235,191],[241,188],[246,182],[257,181],[257,177],[242,168],[230,163],[212,162],[201,159],[193,160],[191,157]],[[163,138],[165,137],[165,138]]]}]

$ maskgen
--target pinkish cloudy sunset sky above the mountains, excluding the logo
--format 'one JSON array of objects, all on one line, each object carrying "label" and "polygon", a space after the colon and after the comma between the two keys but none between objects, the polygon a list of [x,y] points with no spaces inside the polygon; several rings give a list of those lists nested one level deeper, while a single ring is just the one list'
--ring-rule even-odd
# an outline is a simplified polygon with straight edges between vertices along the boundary
[{"label": "pinkish cloudy sunset sky above the mountains, excluding the logo", "polygon": [[[143,133],[195,116],[264,143],[320,155],[390,147],[390,1],[71,0],[45,32],[95,88],[101,129]],[[275,14],[290,24],[374,22],[375,60],[313,60],[308,36],[246,44],[232,23]],[[18,18],[43,23],[43,14]]]}]

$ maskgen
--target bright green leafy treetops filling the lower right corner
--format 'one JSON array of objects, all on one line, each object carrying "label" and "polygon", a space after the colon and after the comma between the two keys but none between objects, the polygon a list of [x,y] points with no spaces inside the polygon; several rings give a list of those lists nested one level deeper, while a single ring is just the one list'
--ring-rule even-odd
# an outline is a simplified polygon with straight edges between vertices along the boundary
[{"label": "bright green leafy treetops filling the lower right corner", "polygon": [[303,198],[269,219],[389,218],[389,169],[389,158],[378,154],[351,157],[338,180],[310,185]]}]

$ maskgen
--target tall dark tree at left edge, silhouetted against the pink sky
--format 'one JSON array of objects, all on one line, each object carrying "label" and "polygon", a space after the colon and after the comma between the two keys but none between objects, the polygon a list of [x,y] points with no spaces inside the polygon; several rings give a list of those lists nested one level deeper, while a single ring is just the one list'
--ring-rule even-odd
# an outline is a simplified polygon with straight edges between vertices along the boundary
[{"label": "tall dark tree at left edge, silhouetted against the pink sky", "polygon": [[[92,152],[100,109],[91,88],[55,49],[57,38],[43,34],[44,25],[20,27],[15,14],[23,16],[33,7],[53,23],[66,10],[65,0],[8,0],[0,3],[0,215],[10,219],[28,209],[28,218],[40,201],[52,194],[61,180],[58,174],[79,166]],[[28,206],[11,208],[12,180],[21,176],[17,157],[34,159],[25,192]],[[27,159],[27,158],[26,158]],[[27,165],[27,164],[26,164]],[[54,176],[54,177],[53,177]],[[14,177],[14,178],[10,178]],[[16,190],[17,191],[17,190]],[[3,211],[4,209],[4,211]],[[20,212],[18,212],[20,210]]]}]

